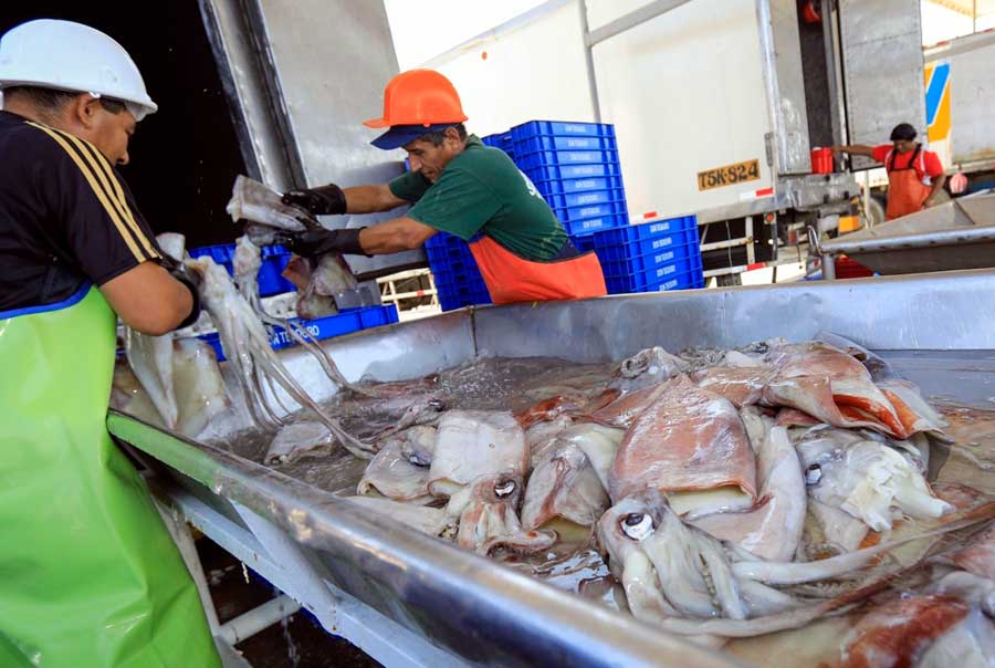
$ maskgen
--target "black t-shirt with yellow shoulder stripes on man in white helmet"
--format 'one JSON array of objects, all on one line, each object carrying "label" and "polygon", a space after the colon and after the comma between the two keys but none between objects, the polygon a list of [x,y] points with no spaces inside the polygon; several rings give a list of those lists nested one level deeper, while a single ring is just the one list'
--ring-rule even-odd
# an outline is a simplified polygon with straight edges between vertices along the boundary
[{"label": "black t-shirt with yellow shoulder stripes on man in white helmet", "polygon": [[88,142],[0,111],[0,314],[160,259],[128,187]]}]

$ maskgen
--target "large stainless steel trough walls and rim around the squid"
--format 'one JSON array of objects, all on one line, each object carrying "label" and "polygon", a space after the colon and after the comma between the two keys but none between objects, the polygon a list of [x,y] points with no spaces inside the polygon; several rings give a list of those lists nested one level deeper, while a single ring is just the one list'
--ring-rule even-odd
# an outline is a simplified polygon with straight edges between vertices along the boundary
[{"label": "large stainless steel trough walls and rim around the squid", "polygon": [[[476,354],[599,362],[650,345],[734,346],[826,330],[889,358],[928,395],[978,404],[995,395],[993,313],[995,272],[973,271],[464,310],[325,346],[347,377],[394,380]],[[328,396],[306,354],[289,348],[280,355],[308,390]],[[379,661],[741,665],[211,446],[247,427],[238,413],[198,441],[122,414],[112,414],[108,427],[166,465],[151,486],[171,508],[167,520],[188,557],[192,545],[182,519]]]}]

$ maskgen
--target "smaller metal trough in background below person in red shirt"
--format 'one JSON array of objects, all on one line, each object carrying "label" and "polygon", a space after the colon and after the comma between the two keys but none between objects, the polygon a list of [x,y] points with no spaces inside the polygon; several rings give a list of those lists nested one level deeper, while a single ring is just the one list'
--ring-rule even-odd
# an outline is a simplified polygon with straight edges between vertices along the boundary
[{"label": "smaller metal trough in background below person in red shirt", "polygon": [[845,254],[884,274],[995,267],[995,192],[980,194],[904,216],[825,243],[813,240],[823,278],[836,278]]}]

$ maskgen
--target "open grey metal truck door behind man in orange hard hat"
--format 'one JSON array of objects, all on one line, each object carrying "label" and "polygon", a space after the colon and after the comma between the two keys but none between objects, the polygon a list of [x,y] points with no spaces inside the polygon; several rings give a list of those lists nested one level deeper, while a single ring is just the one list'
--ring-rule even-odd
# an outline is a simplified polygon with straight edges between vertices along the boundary
[{"label": "open grey metal truck door behind man in orange hard hat", "polygon": [[[201,13],[250,176],[276,189],[383,184],[404,155],[369,145],[397,59],[381,1],[203,0]],[[371,225],[397,213],[365,216]],[[358,227],[348,217],[329,227]],[[364,276],[423,263],[421,250],[360,258]]]}]

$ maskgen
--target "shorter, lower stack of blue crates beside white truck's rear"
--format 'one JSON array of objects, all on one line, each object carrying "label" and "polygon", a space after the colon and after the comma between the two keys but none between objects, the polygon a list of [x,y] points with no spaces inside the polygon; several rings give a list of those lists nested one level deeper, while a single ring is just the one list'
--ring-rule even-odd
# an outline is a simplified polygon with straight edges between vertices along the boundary
[{"label": "shorter, lower stack of blue crates beside white truck's rear", "polygon": [[704,288],[694,216],[603,230],[574,244],[597,253],[610,294]]}]

